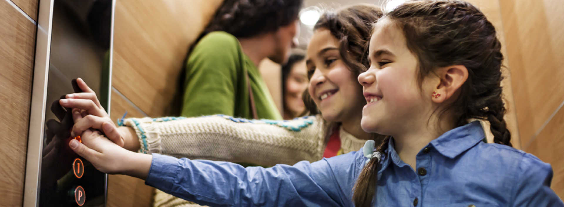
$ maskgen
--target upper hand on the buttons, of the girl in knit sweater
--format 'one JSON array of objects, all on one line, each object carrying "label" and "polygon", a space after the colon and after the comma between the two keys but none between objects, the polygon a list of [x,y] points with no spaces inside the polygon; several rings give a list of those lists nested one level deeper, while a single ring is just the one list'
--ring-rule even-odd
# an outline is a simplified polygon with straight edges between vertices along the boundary
[{"label": "upper hand on the buttons, of the girl in knit sweater", "polygon": [[[110,140],[121,147],[124,147],[124,144],[127,143],[139,145],[137,140],[133,138],[134,132],[132,134],[129,130],[118,130],[98,101],[96,93],[81,78],[77,79],[77,85],[84,93],[68,94],[67,99],[60,100],[60,104],[64,107],[73,108],[72,116],[75,124],[72,129],[72,136],[82,134],[83,131],[92,128],[103,130]],[[81,118],[77,119],[78,116]]]}]

